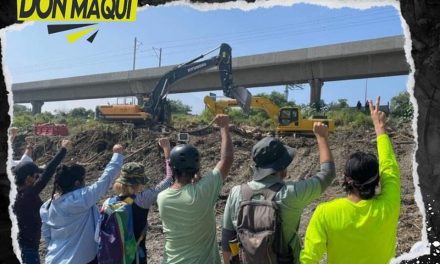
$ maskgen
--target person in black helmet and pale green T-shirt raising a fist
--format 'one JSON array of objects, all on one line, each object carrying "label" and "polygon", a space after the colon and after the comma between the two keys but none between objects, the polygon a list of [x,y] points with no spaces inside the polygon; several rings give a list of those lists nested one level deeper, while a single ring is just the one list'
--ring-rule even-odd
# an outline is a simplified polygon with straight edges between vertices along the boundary
[{"label": "person in black helmet and pale green T-shirt raising a fist", "polygon": [[220,127],[220,161],[194,183],[201,156],[192,145],[171,150],[170,165],[175,182],[158,196],[159,213],[165,235],[163,263],[220,264],[216,239],[215,204],[234,159],[229,133],[229,117],[217,115]]}]

